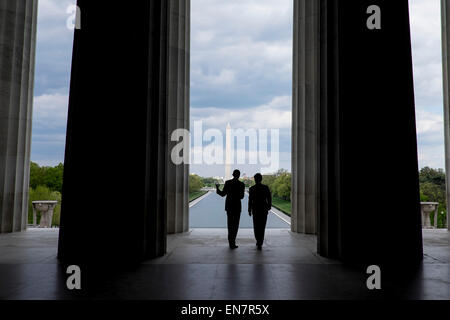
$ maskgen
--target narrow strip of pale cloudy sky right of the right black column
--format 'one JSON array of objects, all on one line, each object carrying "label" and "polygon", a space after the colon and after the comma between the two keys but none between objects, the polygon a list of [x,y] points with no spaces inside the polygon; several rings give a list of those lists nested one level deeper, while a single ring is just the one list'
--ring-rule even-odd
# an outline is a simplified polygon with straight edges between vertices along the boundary
[{"label": "narrow strip of pale cloudy sky right of the right black column", "polygon": [[444,167],[439,0],[411,0],[411,35],[420,167]]}]

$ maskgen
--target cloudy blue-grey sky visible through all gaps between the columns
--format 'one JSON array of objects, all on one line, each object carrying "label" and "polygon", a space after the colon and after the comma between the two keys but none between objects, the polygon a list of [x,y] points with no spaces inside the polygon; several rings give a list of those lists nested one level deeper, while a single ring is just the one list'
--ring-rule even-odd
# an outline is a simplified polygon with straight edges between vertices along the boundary
[{"label": "cloudy blue-grey sky visible through all gaps between the columns", "polygon": [[[439,0],[411,0],[420,167],[444,167]],[[40,0],[32,161],[64,159],[74,0]],[[191,0],[191,128],[279,129],[290,170],[293,0]],[[219,116],[218,116],[219,115]],[[206,143],[206,142],[205,142]],[[242,166],[253,174],[254,166]],[[223,166],[192,172],[223,176]]]}]

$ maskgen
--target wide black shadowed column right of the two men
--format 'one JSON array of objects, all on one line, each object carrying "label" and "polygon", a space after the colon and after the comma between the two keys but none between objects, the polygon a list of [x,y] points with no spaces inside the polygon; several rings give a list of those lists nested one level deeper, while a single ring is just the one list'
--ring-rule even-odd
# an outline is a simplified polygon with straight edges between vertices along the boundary
[{"label": "wide black shadowed column right of the two men", "polygon": [[423,251],[408,1],[320,6],[319,253],[413,265]]}]

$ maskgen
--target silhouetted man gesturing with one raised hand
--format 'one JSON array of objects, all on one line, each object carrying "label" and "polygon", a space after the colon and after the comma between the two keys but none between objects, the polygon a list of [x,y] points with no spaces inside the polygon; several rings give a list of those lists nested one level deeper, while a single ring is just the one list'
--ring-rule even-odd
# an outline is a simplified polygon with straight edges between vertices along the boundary
[{"label": "silhouetted man gesturing with one raised hand", "polygon": [[230,249],[236,249],[236,236],[239,229],[239,221],[241,219],[242,205],[241,200],[244,199],[245,184],[239,181],[241,172],[234,170],[233,179],[225,182],[223,191],[220,191],[219,185],[216,184],[217,194],[225,197],[225,211],[227,212],[228,224],[228,243]]}]

